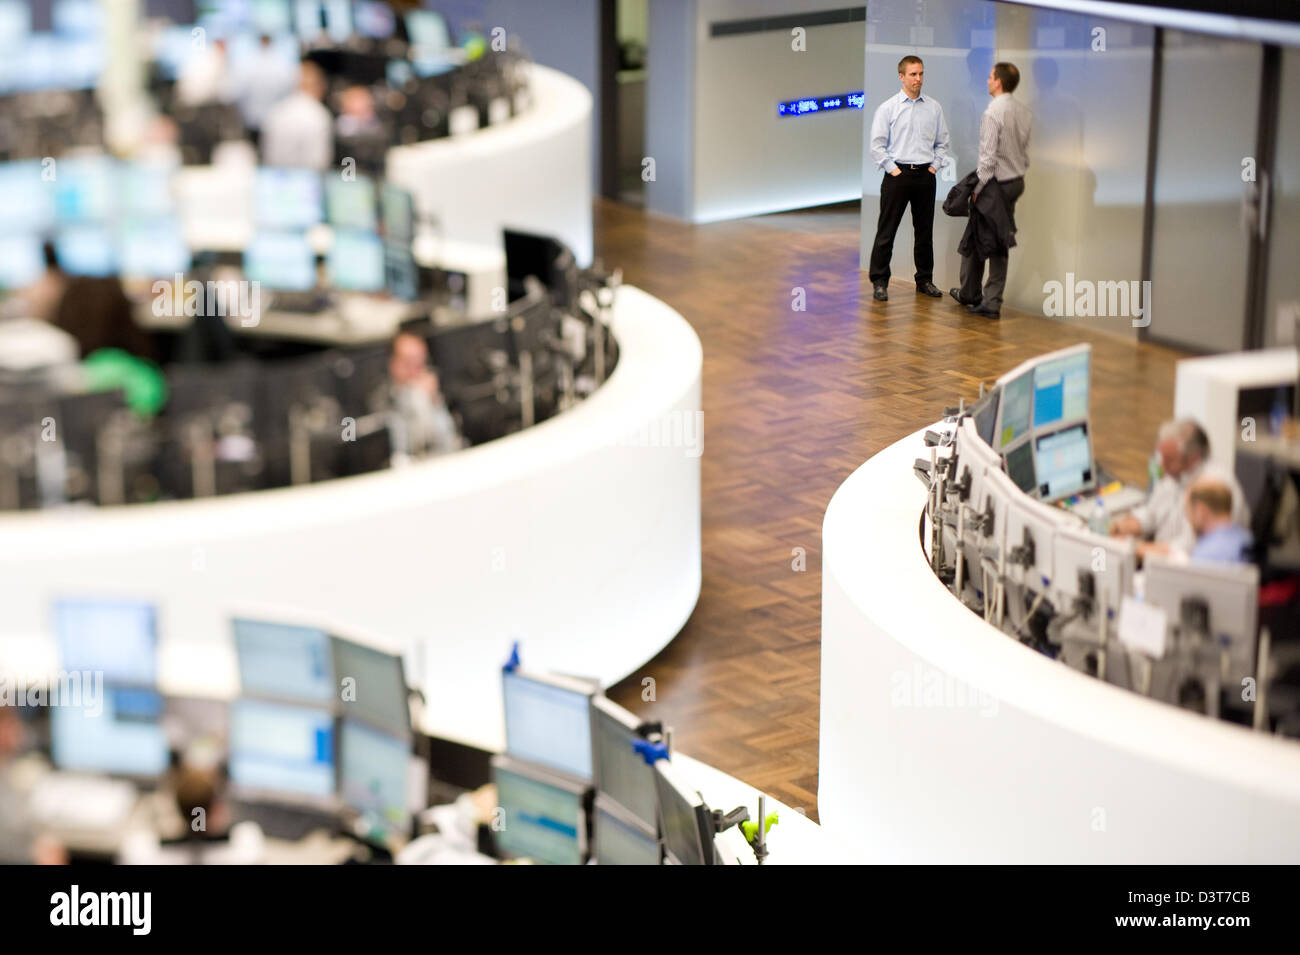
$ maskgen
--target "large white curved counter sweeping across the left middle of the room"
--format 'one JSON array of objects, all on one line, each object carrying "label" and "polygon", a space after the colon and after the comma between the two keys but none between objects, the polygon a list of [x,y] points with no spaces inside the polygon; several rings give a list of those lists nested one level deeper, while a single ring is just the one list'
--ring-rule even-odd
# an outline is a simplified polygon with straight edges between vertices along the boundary
[{"label": "large white curved counter sweeping across the left middle of the room", "polygon": [[426,733],[504,747],[500,664],[614,683],[699,596],[699,377],[690,325],[619,288],[620,357],[589,399],[445,457],[205,500],[0,516],[0,663],[48,672],[60,595],[159,604],[162,690],[230,696],[250,605],[385,634]]}]

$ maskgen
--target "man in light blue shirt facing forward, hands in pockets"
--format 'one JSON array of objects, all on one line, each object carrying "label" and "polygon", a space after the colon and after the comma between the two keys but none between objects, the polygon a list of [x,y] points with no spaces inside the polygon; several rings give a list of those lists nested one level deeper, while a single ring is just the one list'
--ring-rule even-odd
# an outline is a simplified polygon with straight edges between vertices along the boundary
[{"label": "man in light blue shirt facing forward, hands in pockets", "polygon": [[948,159],[948,123],[939,103],[920,95],[926,66],[918,56],[898,61],[902,91],[876,109],[871,121],[871,160],[885,174],[880,183],[880,218],[871,247],[871,285],[876,301],[889,300],[889,259],[902,213],[911,207],[916,291],[932,298],[935,287],[935,178]]}]

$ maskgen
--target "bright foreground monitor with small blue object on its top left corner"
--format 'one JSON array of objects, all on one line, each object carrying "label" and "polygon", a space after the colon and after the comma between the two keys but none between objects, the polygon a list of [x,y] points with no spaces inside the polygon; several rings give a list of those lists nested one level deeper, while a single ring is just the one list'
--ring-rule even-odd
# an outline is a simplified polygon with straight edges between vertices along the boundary
[{"label": "bright foreground monitor with small blue object on its top left corner", "polygon": [[563,677],[504,670],[506,752],[592,778],[593,690]]}]

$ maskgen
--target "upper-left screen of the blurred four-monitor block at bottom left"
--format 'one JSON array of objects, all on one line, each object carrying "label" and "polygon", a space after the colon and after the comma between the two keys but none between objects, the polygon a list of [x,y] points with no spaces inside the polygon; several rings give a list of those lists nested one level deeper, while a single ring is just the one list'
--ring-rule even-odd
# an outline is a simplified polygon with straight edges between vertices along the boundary
[{"label": "upper-left screen of the blurred four-monitor block at bottom left", "polygon": [[324,630],[235,618],[235,659],[244,696],[330,704],[338,698]]}]

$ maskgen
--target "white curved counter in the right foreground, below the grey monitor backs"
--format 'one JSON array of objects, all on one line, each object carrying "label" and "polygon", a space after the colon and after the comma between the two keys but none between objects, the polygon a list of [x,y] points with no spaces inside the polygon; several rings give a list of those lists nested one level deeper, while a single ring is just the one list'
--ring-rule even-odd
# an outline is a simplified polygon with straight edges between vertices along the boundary
[{"label": "white curved counter in the right foreground, below the grey monitor backs", "polygon": [[923,435],[827,507],[827,834],[876,861],[1300,861],[1300,743],[1086,677],[948,592],[920,546]]}]

